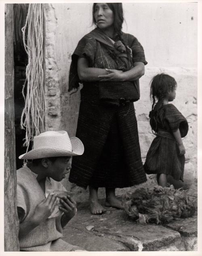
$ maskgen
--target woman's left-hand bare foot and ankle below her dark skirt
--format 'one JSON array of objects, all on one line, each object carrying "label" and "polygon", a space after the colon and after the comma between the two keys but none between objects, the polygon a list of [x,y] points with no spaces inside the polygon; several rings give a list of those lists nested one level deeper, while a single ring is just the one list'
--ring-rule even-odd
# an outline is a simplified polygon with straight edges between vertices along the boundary
[{"label": "woman's left-hand bare foot and ankle below her dark skirt", "polygon": [[89,204],[92,214],[102,214],[107,211],[104,207],[101,206],[101,204],[99,204],[97,191],[98,187],[89,186]]}]

